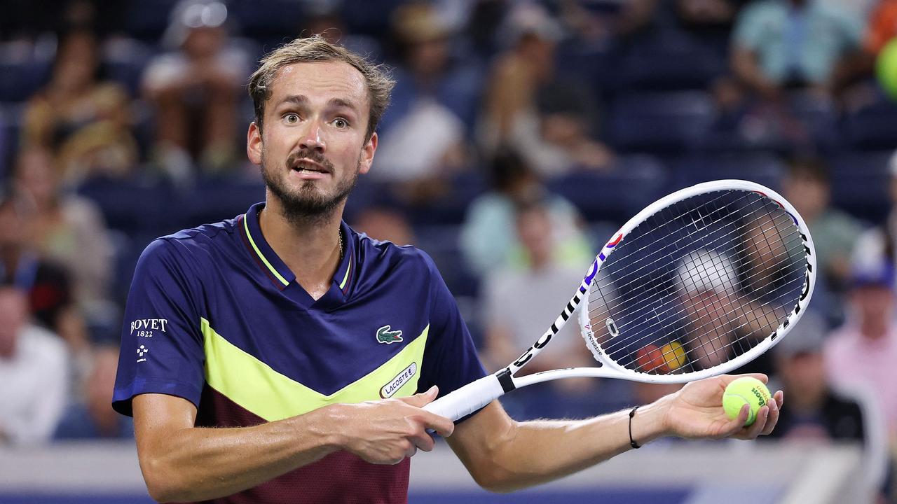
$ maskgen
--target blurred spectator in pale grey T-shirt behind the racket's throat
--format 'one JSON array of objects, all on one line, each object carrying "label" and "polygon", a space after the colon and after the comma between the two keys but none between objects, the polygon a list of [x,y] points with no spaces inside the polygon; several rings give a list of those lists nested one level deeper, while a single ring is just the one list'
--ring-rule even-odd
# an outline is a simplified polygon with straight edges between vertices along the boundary
[{"label": "blurred spectator in pale grey T-shirt behind the racket's throat", "polygon": [[[570,286],[582,281],[581,267],[562,265],[553,256],[556,235],[552,230],[551,209],[544,200],[536,197],[520,202],[515,213],[515,228],[527,256],[526,266],[519,268],[509,264],[496,269],[486,275],[483,288],[485,338],[482,358],[485,367],[491,370],[508,365],[519,355],[521,348],[536,341],[542,328],[557,317],[558,300],[568,299]],[[527,372],[588,366],[591,355],[582,344],[578,330],[576,324],[564,326],[556,341],[545,347],[539,358],[527,366]],[[541,393],[553,396],[552,403],[560,407],[562,395],[594,392],[595,386],[596,383],[587,378],[565,379],[541,387]],[[529,402],[520,398],[521,405]],[[533,413],[540,416],[557,412],[540,410]]]}]

